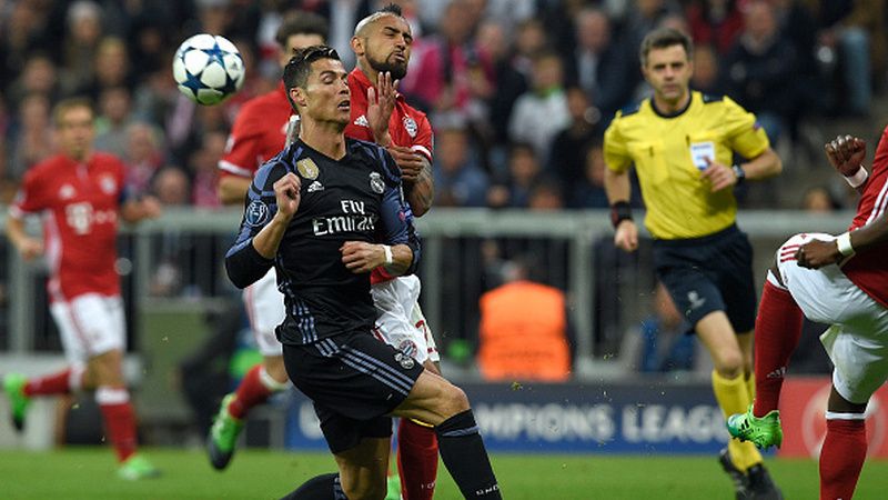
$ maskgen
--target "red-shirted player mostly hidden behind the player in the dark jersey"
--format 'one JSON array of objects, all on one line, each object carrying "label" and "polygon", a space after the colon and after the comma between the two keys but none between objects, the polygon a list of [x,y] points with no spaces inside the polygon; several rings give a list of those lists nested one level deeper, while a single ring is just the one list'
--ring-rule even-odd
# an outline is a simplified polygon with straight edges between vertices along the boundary
[{"label": "red-shirted player mostly hidden behind the player in the dark jersey", "polygon": [[[326,36],[326,20],[314,13],[299,12],[284,19],[275,36],[281,48],[281,68],[295,50],[324,43]],[[265,160],[284,149],[291,114],[283,82],[274,91],[243,106],[234,120],[225,154],[219,162],[219,198],[223,203],[243,204],[253,174]],[[244,290],[243,301],[263,362],[251,368],[238,389],[225,396],[213,421],[208,450],[211,463],[219,470],[231,461],[250,409],[290,387],[281,343],[274,336],[274,328],[286,314],[273,268]]]}]

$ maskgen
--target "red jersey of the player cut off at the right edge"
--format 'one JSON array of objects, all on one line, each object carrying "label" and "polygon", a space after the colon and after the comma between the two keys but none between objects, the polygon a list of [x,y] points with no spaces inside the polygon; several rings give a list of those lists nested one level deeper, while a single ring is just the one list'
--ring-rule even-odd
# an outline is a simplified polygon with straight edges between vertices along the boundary
[{"label": "red jersey of the player cut off at the right edge", "polygon": [[[849,229],[858,229],[888,209],[888,128],[882,131],[872,171],[857,204],[857,214]],[[888,308],[888,243],[857,253],[841,270],[868,296]]]}]

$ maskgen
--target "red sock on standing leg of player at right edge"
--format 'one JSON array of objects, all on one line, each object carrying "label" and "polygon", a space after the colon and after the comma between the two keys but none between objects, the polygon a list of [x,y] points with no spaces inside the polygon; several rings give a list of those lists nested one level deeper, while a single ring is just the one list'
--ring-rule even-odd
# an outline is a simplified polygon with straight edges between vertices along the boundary
[{"label": "red sock on standing leg of player at right edge", "polygon": [[866,458],[865,420],[827,420],[820,450],[820,500],[850,500]]}]

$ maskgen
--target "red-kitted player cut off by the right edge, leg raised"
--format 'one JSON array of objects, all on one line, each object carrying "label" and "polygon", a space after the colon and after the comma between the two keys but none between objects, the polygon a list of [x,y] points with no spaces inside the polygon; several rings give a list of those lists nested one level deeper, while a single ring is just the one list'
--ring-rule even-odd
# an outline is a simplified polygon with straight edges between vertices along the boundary
[{"label": "red-kitted player cut off by the right edge, leg raised", "polygon": [[777,410],[803,314],[829,329],[820,337],[833,364],[820,499],[848,500],[867,454],[867,403],[888,380],[888,128],[872,172],[866,143],[841,136],[826,144],[833,167],[860,192],[848,232],[796,234],[777,251],[756,319],[756,399],[728,419],[735,438],[760,448],[783,441]]}]

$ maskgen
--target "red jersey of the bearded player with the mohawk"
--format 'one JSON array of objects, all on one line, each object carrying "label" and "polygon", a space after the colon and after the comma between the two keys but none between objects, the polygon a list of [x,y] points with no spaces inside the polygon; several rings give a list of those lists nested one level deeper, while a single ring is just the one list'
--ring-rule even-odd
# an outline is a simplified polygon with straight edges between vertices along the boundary
[{"label": "red jersey of the bearded player with the mohawk", "polygon": [[[351,122],[345,127],[345,136],[370,142],[374,142],[367,122],[367,89],[372,86],[360,68],[355,68],[349,73],[349,89],[352,91],[352,117]],[[432,161],[432,124],[425,113],[407,104],[401,93],[395,99],[395,108],[389,120],[389,134],[393,144],[410,148]],[[370,281],[379,283],[392,278],[377,268],[371,273]]]}]

